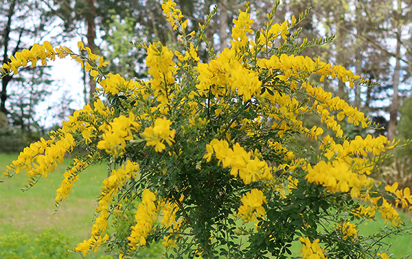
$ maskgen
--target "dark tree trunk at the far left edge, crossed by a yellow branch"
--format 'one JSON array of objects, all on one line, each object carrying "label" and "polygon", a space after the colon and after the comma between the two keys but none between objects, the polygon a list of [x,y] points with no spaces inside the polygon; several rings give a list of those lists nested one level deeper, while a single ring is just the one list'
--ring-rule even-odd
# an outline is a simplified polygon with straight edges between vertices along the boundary
[{"label": "dark tree trunk at the far left edge, crossed by a yellow branch", "polygon": [[[8,43],[10,41],[10,27],[12,25],[12,16],[14,14],[14,7],[16,6],[16,0],[13,0],[12,3],[10,3],[10,8],[8,11],[8,16],[7,16],[7,25],[4,28],[4,34],[3,34],[3,46],[4,46],[4,52],[3,52],[3,63],[7,63],[9,61],[8,58]],[[5,101],[7,100],[7,85],[8,82],[12,80],[11,76],[5,76],[1,80],[1,95],[0,95],[0,111],[2,113],[7,113],[7,109],[5,109]]]}]

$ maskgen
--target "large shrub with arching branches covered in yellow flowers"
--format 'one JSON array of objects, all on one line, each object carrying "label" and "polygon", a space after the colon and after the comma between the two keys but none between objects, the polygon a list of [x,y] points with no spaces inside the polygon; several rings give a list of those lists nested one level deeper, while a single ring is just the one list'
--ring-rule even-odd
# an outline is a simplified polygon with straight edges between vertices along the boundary
[{"label": "large shrub with arching branches covered in yellow flowers", "polygon": [[[147,53],[144,80],[111,74],[82,43],[87,56],[47,42],[16,53],[2,65],[3,76],[69,56],[98,82],[98,92],[93,108],[87,104],[49,139],[25,148],[5,177],[25,172],[30,188],[83,147],[87,153],[62,176],[58,206],[82,181],[82,170],[108,164],[90,238],[73,249],[83,256],[106,244],[119,258],[133,258],[155,242],[166,247],[165,258],[286,258],[300,240],[303,258],[387,258],[378,251],[387,233],[363,236],[357,226],[380,216],[389,233],[404,231],[396,207],[412,212],[411,190],[373,178],[396,142],[345,135],[343,120],[373,125],[321,84],[367,82],[340,65],[300,56],[331,39],[301,40],[297,26],[307,13],[278,24],[276,6],[262,28],[248,7],[240,10],[231,47],[216,54],[205,36],[216,11],[188,32],[176,3],[165,1],[179,43],[136,44]],[[201,61],[204,48],[209,59]],[[313,114],[317,122],[306,120]],[[318,142],[319,150],[303,150],[297,137]],[[243,225],[249,222],[255,227]],[[126,227],[112,232],[111,225]]]}]

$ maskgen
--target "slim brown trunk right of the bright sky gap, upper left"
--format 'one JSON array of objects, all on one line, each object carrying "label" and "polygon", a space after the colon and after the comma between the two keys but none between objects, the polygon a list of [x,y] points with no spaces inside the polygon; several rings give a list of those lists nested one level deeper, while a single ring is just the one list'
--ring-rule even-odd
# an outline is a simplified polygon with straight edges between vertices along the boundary
[{"label": "slim brown trunk right of the bright sky gap, upper left", "polygon": [[[88,12],[84,14],[87,23],[87,45],[90,48],[91,52],[95,54],[96,52],[96,45],[95,45],[95,38],[96,38],[96,25],[95,25],[95,16],[96,16],[96,7],[95,7],[95,0],[87,0],[87,5],[89,7]],[[89,77],[89,104],[93,106],[94,102],[94,93],[96,92],[96,82],[93,77]]]}]

